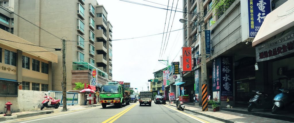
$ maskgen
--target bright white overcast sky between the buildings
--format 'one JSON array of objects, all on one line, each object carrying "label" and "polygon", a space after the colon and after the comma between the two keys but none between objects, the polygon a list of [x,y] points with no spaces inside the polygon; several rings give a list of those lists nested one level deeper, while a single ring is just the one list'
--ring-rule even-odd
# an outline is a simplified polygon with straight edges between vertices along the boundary
[{"label": "bright white overcast sky between the buildings", "polygon": [[[181,9],[183,9],[182,0],[148,0],[158,4],[144,0],[131,1],[161,8],[167,8],[167,5],[176,7],[178,2],[177,11],[182,11]],[[183,30],[174,31],[170,34],[167,33],[167,36],[166,34],[160,34],[128,40],[118,39],[163,33],[164,27],[164,32],[167,32],[167,28],[168,31],[181,29],[183,25],[179,22],[179,19],[183,18],[183,13],[176,12],[175,14],[175,11],[171,13],[171,11],[164,9],[132,4],[120,0],[97,0],[97,2],[105,7],[108,12],[107,20],[113,25],[113,80],[130,83],[131,87],[138,88],[138,92],[142,88],[144,91],[147,91],[147,83],[150,85],[148,79],[154,78],[153,72],[166,67],[166,64],[158,62],[158,60],[168,59],[169,63],[179,61],[182,53],[181,47],[183,46]],[[171,9],[171,7],[168,9]],[[175,9],[173,8],[173,10]],[[166,43],[163,48],[164,42]],[[161,53],[162,50],[163,53]]]}]

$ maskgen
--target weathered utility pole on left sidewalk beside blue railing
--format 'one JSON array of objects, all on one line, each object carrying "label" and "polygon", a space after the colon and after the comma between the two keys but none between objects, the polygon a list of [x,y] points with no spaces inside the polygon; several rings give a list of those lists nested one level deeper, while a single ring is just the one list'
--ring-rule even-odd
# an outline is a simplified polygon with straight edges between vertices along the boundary
[{"label": "weathered utility pole on left sidewalk beside blue railing", "polygon": [[63,111],[67,111],[66,108],[66,66],[65,66],[65,40],[62,39],[62,74],[63,74],[63,80],[62,80],[62,86],[63,86],[63,92],[62,92],[62,104],[63,104]]}]

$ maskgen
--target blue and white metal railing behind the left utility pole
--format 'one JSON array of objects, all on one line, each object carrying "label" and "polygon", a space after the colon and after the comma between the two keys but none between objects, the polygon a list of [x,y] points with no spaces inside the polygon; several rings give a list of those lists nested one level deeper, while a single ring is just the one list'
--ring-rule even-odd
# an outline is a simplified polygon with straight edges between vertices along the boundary
[{"label": "blue and white metal railing behind the left utility pole", "polygon": [[[55,99],[60,99],[60,105],[63,105],[62,91],[48,91],[55,92]],[[66,105],[78,104],[78,93],[66,92]]]}]

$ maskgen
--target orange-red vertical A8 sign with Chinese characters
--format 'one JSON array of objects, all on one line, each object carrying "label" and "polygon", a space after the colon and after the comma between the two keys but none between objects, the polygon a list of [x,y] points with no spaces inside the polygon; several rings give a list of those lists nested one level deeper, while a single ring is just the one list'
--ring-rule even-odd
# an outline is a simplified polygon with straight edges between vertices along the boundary
[{"label": "orange-red vertical A8 sign with Chinese characters", "polygon": [[192,71],[191,47],[183,47],[183,71]]}]

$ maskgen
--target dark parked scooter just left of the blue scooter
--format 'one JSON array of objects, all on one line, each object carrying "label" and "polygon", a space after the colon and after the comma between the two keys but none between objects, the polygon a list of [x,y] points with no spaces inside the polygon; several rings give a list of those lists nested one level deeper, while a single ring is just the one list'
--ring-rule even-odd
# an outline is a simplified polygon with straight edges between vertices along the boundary
[{"label": "dark parked scooter just left of the blue scooter", "polygon": [[270,108],[272,106],[272,102],[270,97],[267,94],[261,91],[254,91],[256,95],[249,100],[248,112],[250,112],[253,108]]}]

